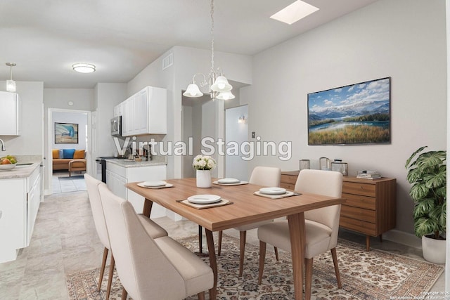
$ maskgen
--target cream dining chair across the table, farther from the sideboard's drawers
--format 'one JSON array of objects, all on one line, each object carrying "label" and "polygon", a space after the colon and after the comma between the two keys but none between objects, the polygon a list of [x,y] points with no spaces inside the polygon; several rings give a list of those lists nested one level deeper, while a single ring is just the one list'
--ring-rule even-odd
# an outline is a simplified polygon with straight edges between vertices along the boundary
[{"label": "cream dining chair across the table, farther from the sideboard's drawers", "polygon": [[[250,176],[250,180],[248,182],[256,185],[263,185],[266,187],[274,187],[280,186],[280,181],[281,181],[280,168],[259,166],[253,169],[252,175]],[[273,220],[261,221],[234,228],[236,230],[239,230],[240,235],[239,277],[242,276],[244,268],[245,242],[247,239],[247,230],[258,228],[259,226],[262,226],[266,223],[271,223],[272,221]],[[219,242],[217,250],[218,255],[221,254],[221,244],[222,244],[222,231],[219,231]],[[278,259],[278,251],[276,248],[275,253],[277,254]]]}]

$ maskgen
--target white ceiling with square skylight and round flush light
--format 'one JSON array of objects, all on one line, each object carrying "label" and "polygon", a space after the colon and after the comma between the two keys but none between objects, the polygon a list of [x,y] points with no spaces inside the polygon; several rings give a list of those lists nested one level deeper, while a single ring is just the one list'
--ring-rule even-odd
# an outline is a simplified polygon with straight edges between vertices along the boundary
[{"label": "white ceiling with square skylight and round flush light", "polygon": [[[214,50],[254,55],[378,0],[307,0],[320,10],[293,25],[269,18],[293,1],[215,0]],[[1,0],[0,80],[11,62],[14,80],[46,88],[128,82],[172,46],[210,49],[210,23],[209,0]]]}]

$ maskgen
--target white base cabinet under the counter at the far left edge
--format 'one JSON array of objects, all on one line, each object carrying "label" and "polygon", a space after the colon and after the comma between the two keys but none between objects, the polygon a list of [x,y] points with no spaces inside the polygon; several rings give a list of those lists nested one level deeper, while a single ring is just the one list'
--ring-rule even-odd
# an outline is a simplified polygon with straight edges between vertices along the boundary
[{"label": "white base cabinet under the counter at the far left edge", "polygon": [[30,245],[40,203],[39,167],[23,178],[0,180],[0,263],[13,261],[18,250]]}]

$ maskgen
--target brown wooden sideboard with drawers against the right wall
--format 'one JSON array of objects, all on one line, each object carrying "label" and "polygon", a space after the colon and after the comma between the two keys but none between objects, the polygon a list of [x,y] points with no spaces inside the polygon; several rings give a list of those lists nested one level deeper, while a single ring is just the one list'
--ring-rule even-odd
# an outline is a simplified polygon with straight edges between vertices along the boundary
[{"label": "brown wooden sideboard with drawers against the right wall", "polygon": [[[294,190],[299,171],[281,172],[282,188]],[[380,179],[344,176],[342,197],[347,201],[340,211],[340,227],[366,235],[366,249],[371,247],[370,237],[382,237],[396,226],[397,181],[395,178]]]}]

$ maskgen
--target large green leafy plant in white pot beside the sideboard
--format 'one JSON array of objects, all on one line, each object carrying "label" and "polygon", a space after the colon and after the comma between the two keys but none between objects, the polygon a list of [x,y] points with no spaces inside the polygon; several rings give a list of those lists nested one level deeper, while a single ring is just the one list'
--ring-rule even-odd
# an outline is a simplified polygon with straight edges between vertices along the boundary
[{"label": "large green leafy plant in white pot beside the sideboard", "polygon": [[412,185],[414,233],[422,237],[425,260],[445,263],[446,151],[423,152],[427,147],[418,148],[405,164]]}]

